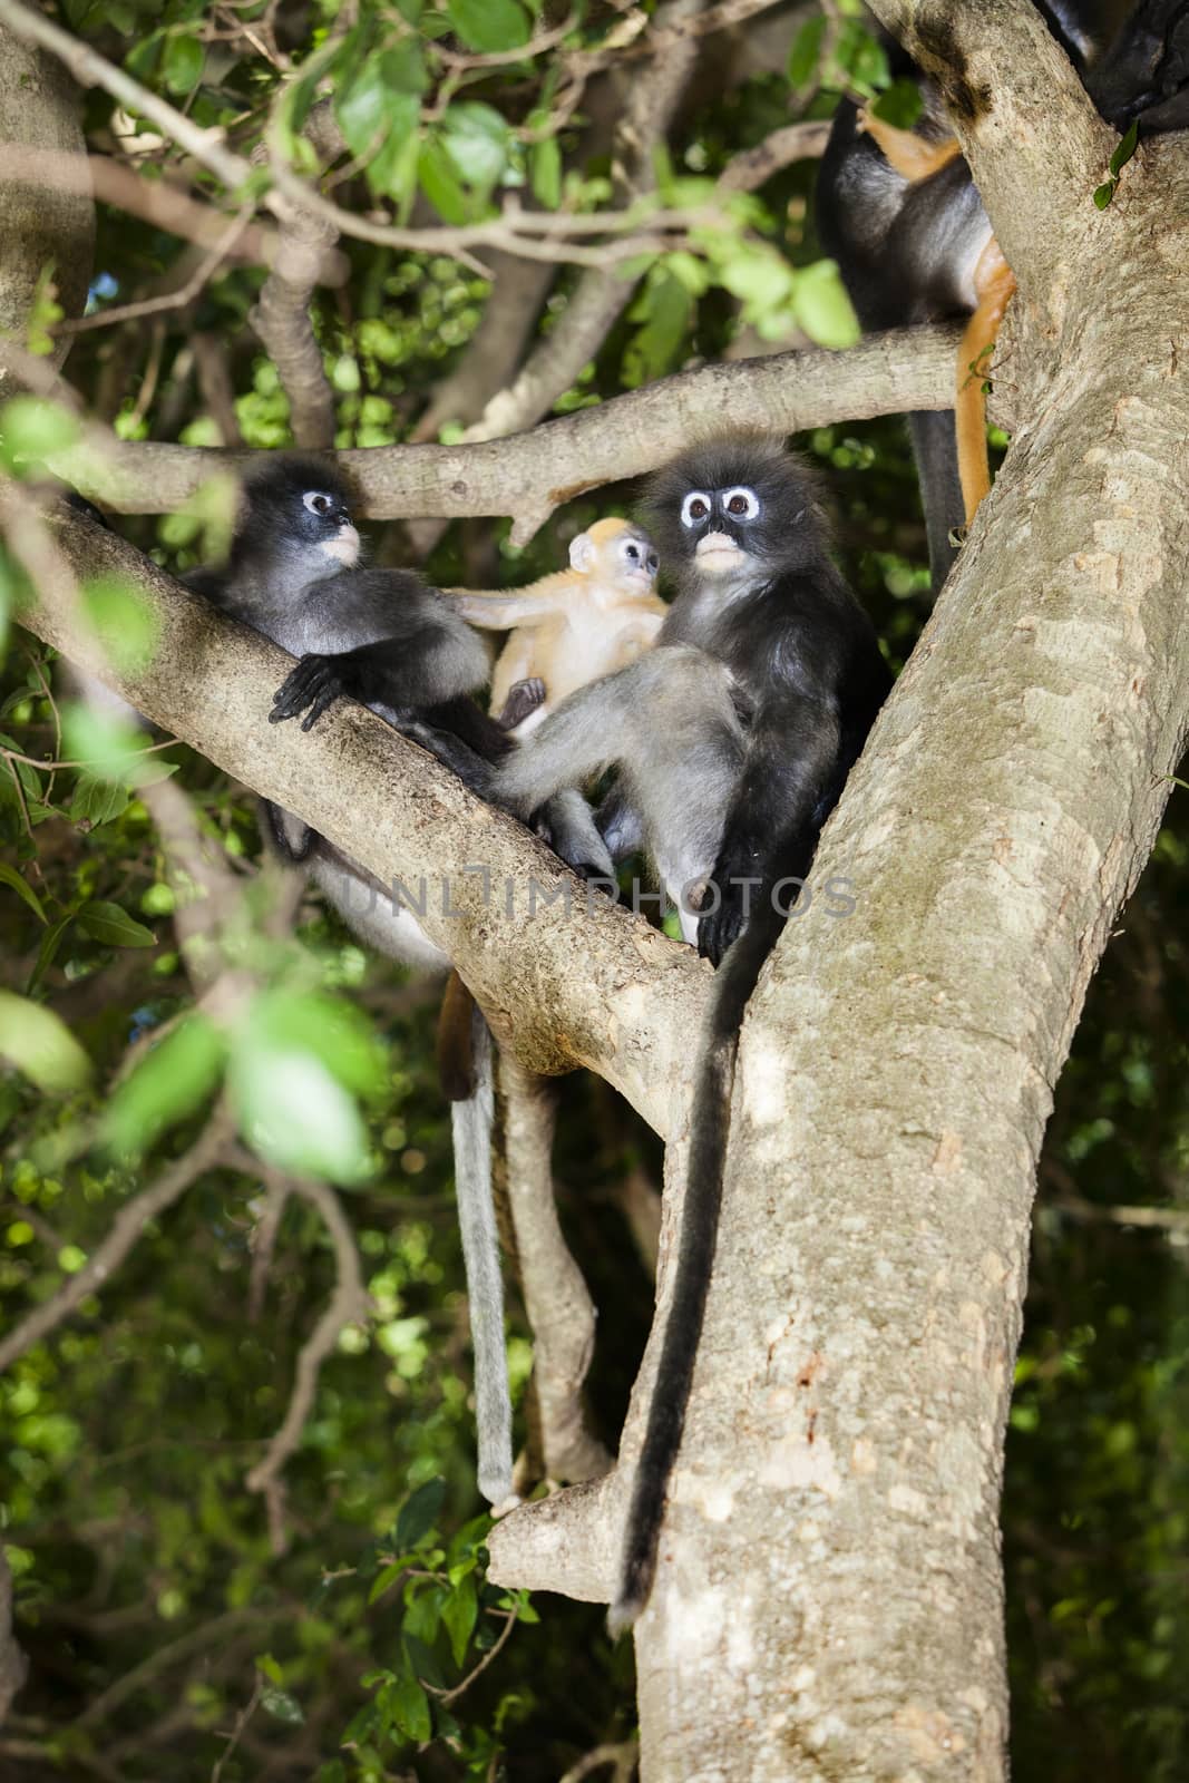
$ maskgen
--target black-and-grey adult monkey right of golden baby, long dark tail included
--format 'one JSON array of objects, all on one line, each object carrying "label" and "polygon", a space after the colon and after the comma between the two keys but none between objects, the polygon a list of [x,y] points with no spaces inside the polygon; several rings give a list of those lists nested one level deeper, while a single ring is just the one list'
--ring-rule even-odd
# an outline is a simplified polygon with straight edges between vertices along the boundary
[{"label": "black-and-grey adult monkey right of golden baby, long dark tail included", "polygon": [[686,938],[697,934],[715,963],[726,954],[697,1066],[672,1303],[613,1628],[636,1617],[656,1565],[715,1255],[743,1009],[784,925],[788,881],[806,877],[891,685],[829,560],[813,485],[779,440],[695,446],[652,480],[647,524],[679,590],[656,647],[562,701],[496,774],[496,797],[531,811],[619,767],[611,852],[642,838]]}]

